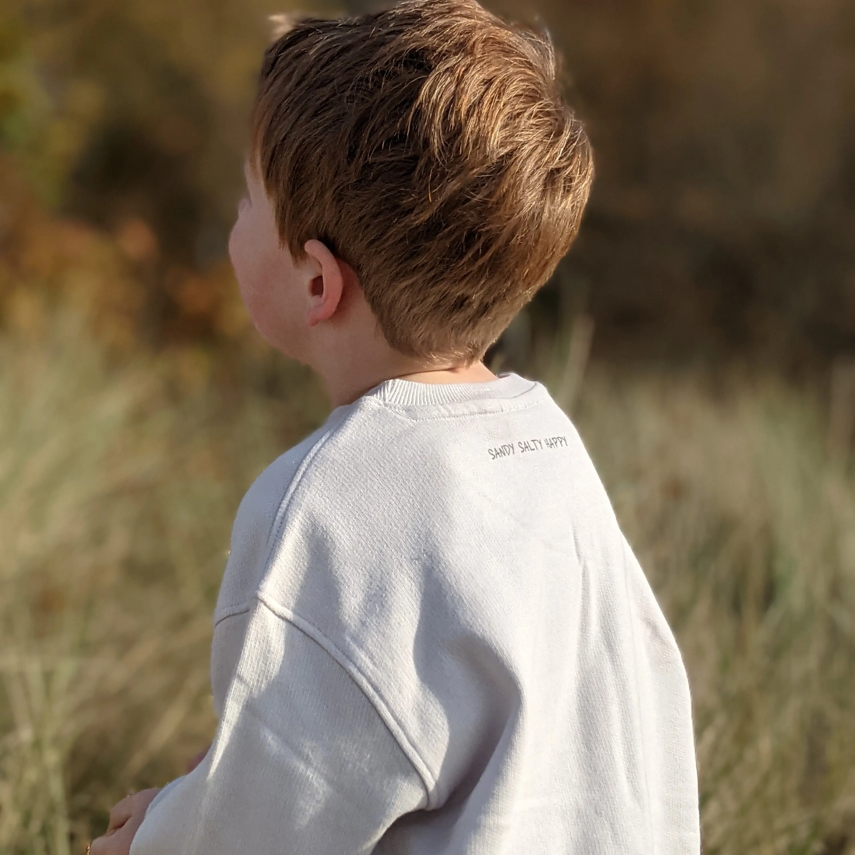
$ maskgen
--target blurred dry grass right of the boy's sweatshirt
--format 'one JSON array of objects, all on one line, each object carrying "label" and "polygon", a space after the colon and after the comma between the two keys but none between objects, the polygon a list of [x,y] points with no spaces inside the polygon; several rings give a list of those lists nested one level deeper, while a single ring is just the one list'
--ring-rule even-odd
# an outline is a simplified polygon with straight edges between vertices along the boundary
[{"label": "blurred dry grass right of the boy's sweatshirt", "polygon": [[693,688],[705,852],[855,849],[855,485],[768,378],[590,378],[581,432]]}]

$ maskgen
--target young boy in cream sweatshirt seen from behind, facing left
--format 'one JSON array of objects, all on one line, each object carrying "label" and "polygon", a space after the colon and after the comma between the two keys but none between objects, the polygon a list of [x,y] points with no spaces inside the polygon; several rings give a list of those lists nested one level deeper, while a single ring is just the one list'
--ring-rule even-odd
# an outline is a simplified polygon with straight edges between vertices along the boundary
[{"label": "young boy in cream sweatshirt seen from behind, facing left", "polygon": [[550,44],[474,0],[268,49],[231,257],[334,409],[238,511],[213,745],[93,855],[699,852],[675,641],[567,417],[481,362],[591,176]]}]

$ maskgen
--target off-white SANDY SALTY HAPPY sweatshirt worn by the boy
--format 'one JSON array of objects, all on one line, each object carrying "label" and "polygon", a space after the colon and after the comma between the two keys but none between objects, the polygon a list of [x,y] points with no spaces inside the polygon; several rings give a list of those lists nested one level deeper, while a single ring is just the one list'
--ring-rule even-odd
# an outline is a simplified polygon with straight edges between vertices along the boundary
[{"label": "off-white SANDY SALTY HAPPY sweatshirt worn by the boy", "polygon": [[689,855],[687,676],[545,387],[386,380],[262,473],[132,855]]}]

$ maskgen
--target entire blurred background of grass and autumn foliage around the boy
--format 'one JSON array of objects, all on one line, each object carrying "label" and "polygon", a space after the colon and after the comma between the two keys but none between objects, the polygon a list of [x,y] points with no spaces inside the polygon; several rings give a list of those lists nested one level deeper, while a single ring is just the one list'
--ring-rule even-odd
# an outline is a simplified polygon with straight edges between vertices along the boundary
[{"label": "entire blurred background of grass and autumn foliage around the boy", "polygon": [[[705,852],[855,852],[855,3],[489,5],[551,32],[598,169],[489,361],[571,414],[675,628]],[[226,256],[287,10],[0,0],[3,855],[207,744],[234,511],[327,413]]]}]

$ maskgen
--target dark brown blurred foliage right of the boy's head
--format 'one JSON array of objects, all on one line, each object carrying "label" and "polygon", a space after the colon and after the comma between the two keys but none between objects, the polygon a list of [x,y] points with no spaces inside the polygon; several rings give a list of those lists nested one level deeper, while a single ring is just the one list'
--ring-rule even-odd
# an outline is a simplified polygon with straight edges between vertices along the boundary
[{"label": "dark brown blurred foliage right of the boy's head", "polygon": [[855,350],[855,5],[543,9],[596,146],[567,275],[600,345]]}]

